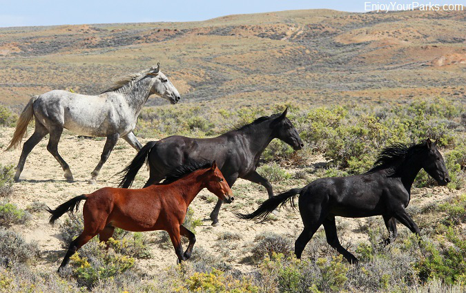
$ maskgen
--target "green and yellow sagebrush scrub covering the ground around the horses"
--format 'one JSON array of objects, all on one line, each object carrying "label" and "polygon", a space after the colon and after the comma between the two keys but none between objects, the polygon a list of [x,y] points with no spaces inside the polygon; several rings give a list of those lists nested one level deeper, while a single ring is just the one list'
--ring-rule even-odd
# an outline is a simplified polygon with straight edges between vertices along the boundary
[{"label": "green and yellow sagebrush scrub covering the ground around the horses", "polygon": [[[43,204],[30,202],[26,209],[12,198],[12,167],[0,168],[0,288],[6,292],[463,292],[466,284],[466,191],[465,191],[465,105],[452,99],[420,99],[399,105],[353,104],[304,107],[277,105],[261,108],[206,108],[180,105],[144,109],[136,134],[154,138],[172,134],[211,137],[290,107],[289,118],[300,131],[306,147],[294,152],[282,142],[273,141],[264,152],[258,172],[273,182],[275,190],[298,187],[324,176],[347,176],[369,169],[380,149],[394,142],[419,142],[438,139],[452,182],[441,192],[443,200],[430,201],[436,187],[426,173],[415,181],[409,213],[421,228],[417,238],[407,229],[387,247],[379,243],[387,236],[382,221],[358,222],[357,230],[368,240],[344,243],[360,258],[360,265],[342,260],[318,231],[298,261],[293,255],[295,235],[258,232],[253,241],[244,243],[237,232],[215,236],[217,253],[197,245],[193,258],[182,265],[168,265],[148,274],[140,263],[151,261],[151,245],[172,248],[164,233],[155,240],[146,234],[117,229],[105,245],[94,239],[72,257],[63,274],[39,270],[35,264],[43,258],[36,243],[24,240],[17,227],[33,217],[46,218]],[[9,124],[3,123],[7,127]],[[313,164],[315,155],[324,158]],[[139,183],[138,183],[139,182]],[[142,184],[144,178],[137,178]],[[66,188],[66,187],[65,187]],[[253,209],[264,198],[249,198],[249,185],[233,189],[244,202],[226,209]],[[209,196],[201,196],[213,202]],[[185,220],[196,231],[202,220],[195,218],[193,207]],[[271,215],[266,223],[280,218],[300,222],[293,211]],[[346,222],[338,224],[349,229]],[[235,224],[238,224],[236,222]],[[258,224],[255,224],[258,225]],[[260,225],[260,224],[259,224]],[[400,226],[400,224],[398,224]],[[59,224],[64,247],[79,233],[81,216],[69,216]],[[260,226],[257,228],[260,231]],[[208,233],[215,234],[213,228]],[[350,233],[350,232],[349,232]],[[186,245],[186,244],[185,244]],[[245,255],[240,261],[248,270],[237,270],[232,249]],[[169,253],[168,253],[169,252]]]}]

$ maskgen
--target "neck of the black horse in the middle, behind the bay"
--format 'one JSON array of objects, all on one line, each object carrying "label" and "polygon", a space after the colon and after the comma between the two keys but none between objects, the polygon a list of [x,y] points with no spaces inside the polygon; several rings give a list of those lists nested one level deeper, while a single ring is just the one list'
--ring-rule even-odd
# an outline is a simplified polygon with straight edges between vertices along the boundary
[{"label": "neck of the black horse in the middle, behind the bay", "polygon": [[275,138],[275,131],[271,129],[270,124],[271,121],[264,121],[258,124],[251,124],[240,130],[251,142],[249,144],[251,153],[262,153]]}]

